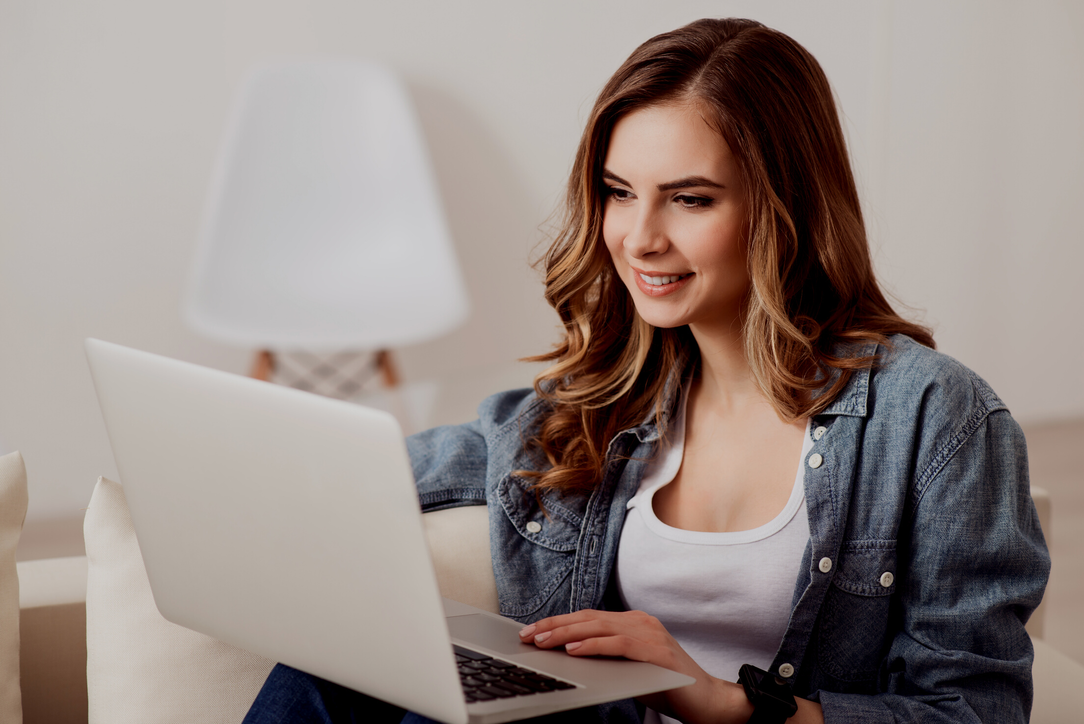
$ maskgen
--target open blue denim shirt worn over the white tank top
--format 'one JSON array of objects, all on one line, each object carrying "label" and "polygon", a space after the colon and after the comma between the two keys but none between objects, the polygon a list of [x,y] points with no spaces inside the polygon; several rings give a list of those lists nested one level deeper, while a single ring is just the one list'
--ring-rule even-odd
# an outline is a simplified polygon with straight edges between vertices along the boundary
[{"label": "open blue denim shirt worn over the white tank top", "polygon": [[[823,462],[805,469],[810,541],[772,671],[792,667],[796,695],[829,723],[1027,722],[1024,623],[1050,559],[1023,434],[973,372],[891,342],[810,426],[827,428],[810,452]],[[503,392],[479,419],[408,440],[423,509],[489,505],[501,612],[525,623],[620,607],[625,504],[660,437],[651,421],[618,434],[590,494],[537,495],[514,471],[544,462],[525,440],[545,404]]]}]

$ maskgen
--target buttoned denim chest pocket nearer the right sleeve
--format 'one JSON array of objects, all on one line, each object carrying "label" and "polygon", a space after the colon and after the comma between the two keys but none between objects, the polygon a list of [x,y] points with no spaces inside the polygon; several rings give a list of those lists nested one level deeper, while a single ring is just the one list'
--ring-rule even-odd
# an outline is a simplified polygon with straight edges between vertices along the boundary
[{"label": "buttoned denim chest pocket nearer the right sleeve", "polygon": [[848,541],[821,607],[817,659],[840,682],[872,682],[895,593],[895,541]]}]

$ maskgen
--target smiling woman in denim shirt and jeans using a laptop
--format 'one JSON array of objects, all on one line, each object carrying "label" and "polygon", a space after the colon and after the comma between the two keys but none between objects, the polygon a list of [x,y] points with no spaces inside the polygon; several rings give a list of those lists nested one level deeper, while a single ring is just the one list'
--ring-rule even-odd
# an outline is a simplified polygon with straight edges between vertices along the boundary
[{"label": "smiling woman in denim shirt and jeans using a laptop", "polygon": [[[1027,721],[1049,558],[1023,436],[880,292],[816,61],[751,21],[648,40],[567,206],[553,366],[409,441],[425,509],[489,505],[525,642],[697,682],[556,721],[765,716],[746,663],[795,722]],[[286,690],[314,709],[259,719]],[[249,721],[376,706],[280,667]]]}]

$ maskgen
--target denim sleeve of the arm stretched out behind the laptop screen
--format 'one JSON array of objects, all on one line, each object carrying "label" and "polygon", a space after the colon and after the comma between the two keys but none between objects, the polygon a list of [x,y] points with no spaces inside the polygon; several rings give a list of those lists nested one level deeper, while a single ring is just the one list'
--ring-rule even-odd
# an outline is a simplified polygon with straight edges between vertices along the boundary
[{"label": "denim sleeve of the arm stretched out behind the laptop screen", "polygon": [[406,452],[426,513],[486,504],[488,456],[480,421],[412,435]]}]

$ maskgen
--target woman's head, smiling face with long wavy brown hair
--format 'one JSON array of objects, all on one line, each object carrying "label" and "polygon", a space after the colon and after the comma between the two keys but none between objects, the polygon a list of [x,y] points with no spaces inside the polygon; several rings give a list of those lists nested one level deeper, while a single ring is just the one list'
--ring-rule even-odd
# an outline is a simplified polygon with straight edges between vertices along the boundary
[{"label": "woman's head, smiling face with long wavy brown hair", "polygon": [[[693,269],[691,255],[715,262]],[[697,357],[705,340],[688,325],[702,328],[705,315],[731,331],[741,366],[791,422],[827,408],[874,363],[841,344],[904,334],[933,347],[874,276],[824,72],[752,21],[662,34],[614,74],[544,264],[566,337],[533,358],[555,362],[538,387],[557,403],[537,438],[552,464],[541,487],[593,488],[607,441],[646,415],[661,419],[667,372]]]}]

